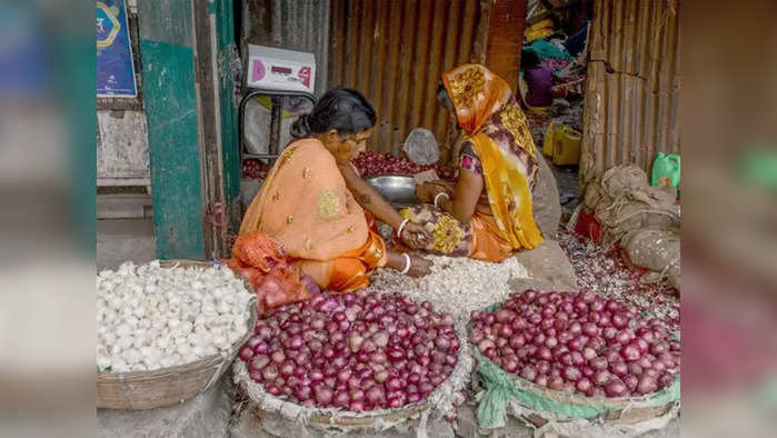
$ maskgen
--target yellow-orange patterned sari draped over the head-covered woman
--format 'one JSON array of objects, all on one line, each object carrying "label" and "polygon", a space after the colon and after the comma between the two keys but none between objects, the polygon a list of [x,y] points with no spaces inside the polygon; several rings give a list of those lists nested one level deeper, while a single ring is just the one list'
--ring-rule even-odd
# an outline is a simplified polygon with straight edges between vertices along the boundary
[{"label": "yellow-orange patterned sari draped over the head-covered woman", "polygon": [[510,87],[480,64],[464,64],[442,74],[465,140],[482,166],[491,215],[476,211],[462,225],[439,210],[411,208],[401,215],[422,223],[435,240],[429,250],[501,261],[514,250],[542,241],[531,209],[537,173],[536,150],[524,111]]}]

